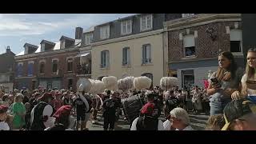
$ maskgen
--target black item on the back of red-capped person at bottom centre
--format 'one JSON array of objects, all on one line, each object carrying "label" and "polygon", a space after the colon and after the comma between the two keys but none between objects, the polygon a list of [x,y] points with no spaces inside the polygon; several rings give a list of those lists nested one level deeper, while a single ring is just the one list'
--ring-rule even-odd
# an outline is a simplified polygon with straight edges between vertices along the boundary
[{"label": "black item on the back of red-capped person at bottom centre", "polygon": [[158,130],[158,118],[152,116],[139,116],[137,130]]}]

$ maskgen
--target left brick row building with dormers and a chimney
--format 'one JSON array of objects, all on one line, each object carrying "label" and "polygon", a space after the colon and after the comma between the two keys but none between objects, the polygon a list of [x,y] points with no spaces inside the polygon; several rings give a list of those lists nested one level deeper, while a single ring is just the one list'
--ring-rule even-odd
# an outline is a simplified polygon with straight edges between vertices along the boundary
[{"label": "left brick row building with dormers and a chimney", "polygon": [[[26,43],[15,56],[15,83],[19,90],[38,86],[46,89],[76,89],[81,73],[82,28],[76,28],[75,39],[62,36],[59,42],[42,40],[39,46]],[[90,74],[89,74],[90,75]]]}]

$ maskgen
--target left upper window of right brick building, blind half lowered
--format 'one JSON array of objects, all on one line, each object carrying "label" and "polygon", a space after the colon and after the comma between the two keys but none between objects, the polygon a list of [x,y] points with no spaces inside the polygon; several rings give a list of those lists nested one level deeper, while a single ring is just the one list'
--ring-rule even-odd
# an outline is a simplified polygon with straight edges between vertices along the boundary
[{"label": "left upper window of right brick building, blind half lowered", "polygon": [[194,46],[194,35],[186,35],[183,38],[183,46],[185,57],[194,57],[195,56],[195,46]]}]

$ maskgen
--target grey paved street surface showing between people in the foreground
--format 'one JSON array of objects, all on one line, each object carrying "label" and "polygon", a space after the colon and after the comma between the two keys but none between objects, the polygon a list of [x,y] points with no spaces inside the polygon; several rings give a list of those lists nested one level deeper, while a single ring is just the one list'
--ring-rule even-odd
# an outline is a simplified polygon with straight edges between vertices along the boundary
[{"label": "grey paved street surface showing between people in the foreground", "polygon": [[[201,114],[189,114],[190,116],[190,122],[191,126],[194,128],[194,130],[204,130],[204,127],[206,125],[206,121],[209,118],[208,115],[205,115],[203,113]],[[91,121],[87,122],[87,128],[89,130],[103,130],[103,118],[102,114],[98,113],[98,122],[92,124]],[[123,116],[121,116],[115,124],[114,130],[130,130],[129,123],[127,121],[123,120]],[[164,118],[163,114],[161,114],[160,118],[162,122],[164,122],[166,119]]]}]

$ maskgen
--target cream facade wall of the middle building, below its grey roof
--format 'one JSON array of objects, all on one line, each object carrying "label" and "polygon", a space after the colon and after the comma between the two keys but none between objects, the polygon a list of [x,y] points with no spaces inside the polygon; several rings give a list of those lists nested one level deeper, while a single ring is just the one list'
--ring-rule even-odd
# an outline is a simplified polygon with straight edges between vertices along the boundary
[{"label": "cream facade wall of the middle building, below its grey roof", "polygon": [[[102,58],[102,54],[106,54],[106,58]],[[91,55],[94,79],[110,75],[118,79],[147,75],[153,78],[154,86],[159,86],[163,77],[162,30],[95,42],[92,44]],[[123,58],[124,55],[130,58]],[[106,60],[106,66],[102,66],[102,59]],[[124,62],[124,59],[127,61]]]}]

